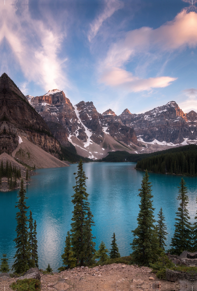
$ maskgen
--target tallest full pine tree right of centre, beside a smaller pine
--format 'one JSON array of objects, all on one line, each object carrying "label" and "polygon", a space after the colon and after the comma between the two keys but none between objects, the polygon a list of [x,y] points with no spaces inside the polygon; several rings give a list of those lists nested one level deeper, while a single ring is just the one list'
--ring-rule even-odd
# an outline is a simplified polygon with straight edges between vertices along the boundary
[{"label": "tallest full pine tree right of centre, beside a smaller pine", "polygon": [[139,197],[141,197],[139,204],[139,214],[137,217],[138,226],[135,230],[132,230],[134,235],[131,248],[133,249],[132,258],[140,265],[149,265],[157,261],[159,245],[157,234],[155,230],[155,219],[153,215],[153,195],[151,193],[151,182],[148,182],[148,171],[142,179],[142,187],[138,191]]}]

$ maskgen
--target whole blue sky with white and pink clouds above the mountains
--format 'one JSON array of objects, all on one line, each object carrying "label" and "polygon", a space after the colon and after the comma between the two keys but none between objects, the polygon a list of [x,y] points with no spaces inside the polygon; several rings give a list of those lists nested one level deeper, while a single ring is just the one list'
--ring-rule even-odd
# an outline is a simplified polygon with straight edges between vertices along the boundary
[{"label": "whole blue sky with white and pink clouds above the mountains", "polygon": [[197,0],[0,0],[0,70],[99,113],[197,111]]}]

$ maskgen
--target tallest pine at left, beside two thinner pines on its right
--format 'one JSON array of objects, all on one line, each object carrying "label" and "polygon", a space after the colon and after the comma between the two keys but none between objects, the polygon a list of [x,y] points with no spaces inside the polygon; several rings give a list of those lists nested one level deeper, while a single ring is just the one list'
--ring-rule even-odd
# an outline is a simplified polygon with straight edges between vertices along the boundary
[{"label": "tallest pine at left, beside two thinner pines on its right", "polygon": [[26,206],[25,199],[25,193],[26,190],[24,189],[24,181],[21,179],[21,189],[19,191],[19,195],[17,198],[19,198],[19,201],[16,202],[19,212],[16,214],[16,220],[17,220],[17,237],[14,239],[14,242],[16,243],[15,248],[17,249],[14,259],[15,262],[12,266],[12,270],[14,270],[16,273],[21,274],[26,272],[31,266],[29,266],[29,262],[31,262],[31,246],[28,242],[29,233],[28,233],[28,218],[26,216],[27,209],[29,206]]}]

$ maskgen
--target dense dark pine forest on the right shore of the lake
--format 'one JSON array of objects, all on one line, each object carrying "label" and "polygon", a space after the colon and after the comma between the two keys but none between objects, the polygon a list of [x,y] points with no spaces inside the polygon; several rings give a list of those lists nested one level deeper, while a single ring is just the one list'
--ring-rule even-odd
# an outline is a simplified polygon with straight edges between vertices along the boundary
[{"label": "dense dark pine forest on the right shore of the lake", "polygon": [[197,145],[162,151],[137,162],[136,169],[154,173],[197,176]]}]

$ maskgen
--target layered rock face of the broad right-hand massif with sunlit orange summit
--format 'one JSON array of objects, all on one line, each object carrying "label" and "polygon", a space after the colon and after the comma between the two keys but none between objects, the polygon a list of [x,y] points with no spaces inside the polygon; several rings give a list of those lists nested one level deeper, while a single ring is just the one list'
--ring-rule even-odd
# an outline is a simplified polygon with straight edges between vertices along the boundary
[{"label": "layered rock face of the broad right-hand massif with sunlit orange summit", "polygon": [[125,109],[119,118],[124,125],[135,129],[139,139],[178,144],[184,139],[196,140],[196,113],[184,113],[175,101],[141,114]]}]

